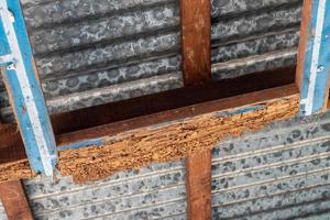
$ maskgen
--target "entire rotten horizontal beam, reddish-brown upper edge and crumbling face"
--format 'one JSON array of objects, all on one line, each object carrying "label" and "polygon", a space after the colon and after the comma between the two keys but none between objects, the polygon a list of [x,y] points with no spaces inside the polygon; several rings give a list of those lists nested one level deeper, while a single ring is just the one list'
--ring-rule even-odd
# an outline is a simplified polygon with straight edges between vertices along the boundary
[{"label": "entire rotten horizontal beam, reddish-brown upper edge and crumbling face", "polygon": [[[298,102],[296,86],[288,85],[62,134],[59,145],[73,140],[74,144],[97,142],[59,151],[57,168],[62,175],[85,182],[152,162],[185,158],[229,136],[294,117]],[[24,160],[0,164],[0,180],[31,177],[29,168]]]}]

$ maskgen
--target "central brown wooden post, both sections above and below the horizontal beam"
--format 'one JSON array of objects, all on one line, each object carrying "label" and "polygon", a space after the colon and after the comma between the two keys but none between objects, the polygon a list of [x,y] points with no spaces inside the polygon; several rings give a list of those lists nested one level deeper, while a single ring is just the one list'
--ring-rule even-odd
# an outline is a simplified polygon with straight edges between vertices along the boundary
[{"label": "central brown wooden post, both sections above and below the horizontal beam", "polygon": [[[211,79],[209,0],[180,0],[182,57],[185,86]],[[190,220],[211,219],[211,151],[187,158],[187,204]]]}]

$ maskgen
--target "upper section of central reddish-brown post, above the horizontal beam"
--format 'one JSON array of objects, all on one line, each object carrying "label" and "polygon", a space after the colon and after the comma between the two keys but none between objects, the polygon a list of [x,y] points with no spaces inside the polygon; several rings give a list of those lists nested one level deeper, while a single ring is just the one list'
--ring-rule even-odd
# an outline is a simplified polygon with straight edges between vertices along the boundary
[{"label": "upper section of central reddish-brown post, above the horizontal beam", "polygon": [[186,86],[211,78],[211,8],[209,0],[180,0],[182,57]]}]

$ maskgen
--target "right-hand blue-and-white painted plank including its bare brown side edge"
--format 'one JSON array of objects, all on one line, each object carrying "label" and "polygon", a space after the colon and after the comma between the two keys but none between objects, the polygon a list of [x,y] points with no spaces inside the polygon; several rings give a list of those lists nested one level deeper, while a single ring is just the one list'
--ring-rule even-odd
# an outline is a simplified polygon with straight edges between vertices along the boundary
[{"label": "right-hand blue-and-white painted plank including its bare brown side edge", "polygon": [[296,82],[300,88],[300,114],[327,109],[330,74],[330,4],[327,0],[305,0]]}]

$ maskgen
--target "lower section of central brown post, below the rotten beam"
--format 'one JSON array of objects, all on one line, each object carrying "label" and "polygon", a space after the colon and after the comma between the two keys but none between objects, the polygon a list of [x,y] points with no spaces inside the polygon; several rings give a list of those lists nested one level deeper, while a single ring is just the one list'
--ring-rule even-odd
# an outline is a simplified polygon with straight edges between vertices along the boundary
[{"label": "lower section of central brown post, below the rotten beam", "polygon": [[187,158],[188,217],[211,220],[211,151]]}]

